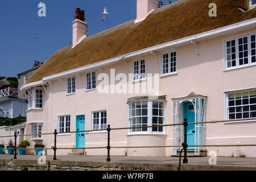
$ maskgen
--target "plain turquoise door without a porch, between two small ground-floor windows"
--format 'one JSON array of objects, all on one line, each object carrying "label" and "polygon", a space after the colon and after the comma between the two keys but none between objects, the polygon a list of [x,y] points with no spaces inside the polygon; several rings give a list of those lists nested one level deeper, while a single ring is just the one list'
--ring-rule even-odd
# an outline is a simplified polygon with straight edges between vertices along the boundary
[{"label": "plain turquoise door without a porch, between two small ground-floor windows", "polygon": [[[85,130],[85,116],[77,115],[76,116],[76,131],[84,131]],[[76,148],[85,147],[85,133],[76,133]]]}]

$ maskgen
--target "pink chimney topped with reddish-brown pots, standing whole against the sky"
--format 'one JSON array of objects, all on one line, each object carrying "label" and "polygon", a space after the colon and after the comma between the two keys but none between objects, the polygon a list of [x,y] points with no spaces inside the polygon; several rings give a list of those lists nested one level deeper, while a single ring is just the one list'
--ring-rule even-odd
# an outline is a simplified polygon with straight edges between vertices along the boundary
[{"label": "pink chimney topped with reddish-brown pots, standing whole against the sky", "polygon": [[86,32],[88,25],[84,22],[84,10],[80,10],[79,7],[76,9],[76,20],[72,22],[73,24],[73,44],[72,48],[76,47],[84,38],[86,38]]}]

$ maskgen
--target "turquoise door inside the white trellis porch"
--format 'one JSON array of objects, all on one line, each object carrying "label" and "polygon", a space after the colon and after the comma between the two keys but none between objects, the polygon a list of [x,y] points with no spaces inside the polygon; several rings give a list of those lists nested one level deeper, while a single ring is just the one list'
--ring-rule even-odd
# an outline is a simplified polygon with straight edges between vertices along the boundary
[{"label": "turquoise door inside the white trellis porch", "polygon": [[[188,123],[195,122],[195,108],[191,102],[183,102],[183,121],[187,118]],[[184,136],[184,129],[183,129]],[[183,139],[184,142],[184,139]],[[195,125],[187,126],[187,144],[195,145]],[[188,149],[195,149],[195,147],[188,147]]]}]

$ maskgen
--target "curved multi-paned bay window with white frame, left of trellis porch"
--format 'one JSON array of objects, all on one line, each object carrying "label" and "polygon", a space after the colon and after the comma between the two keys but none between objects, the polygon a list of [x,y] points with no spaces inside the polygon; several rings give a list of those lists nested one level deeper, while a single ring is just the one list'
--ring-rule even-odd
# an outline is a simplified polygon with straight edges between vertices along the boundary
[{"label": "curved multi-paned bay window with white frame, left of trellis porch", "polygon": [[[134,101],[129,103],[129,127],[160,126],[165,123],[163,101]],[[163,127],[129,129],[129,133],[164,133]]]}]

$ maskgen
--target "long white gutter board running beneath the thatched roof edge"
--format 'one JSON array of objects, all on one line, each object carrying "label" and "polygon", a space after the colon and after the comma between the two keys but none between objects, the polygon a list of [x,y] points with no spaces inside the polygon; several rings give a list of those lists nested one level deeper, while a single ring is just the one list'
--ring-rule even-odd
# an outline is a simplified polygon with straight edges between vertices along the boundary
[{"label": "long white gutter board running beneath the thatched roof edge", "polygon": [[253,18],[253,19],[245,20],[245,21],[240,22],[240,23],[235,23],[235,24],[232,24],[232,25],[229,25],[229,26],[225,26],[225,27],[217,28],[217,29],[210,30],[210,31],[207,31],[207,32],[203,32],[201,34],[188,36],[186,38],[177,39],[177,40],[174,40],[174,41],[171,41],[171,42],[168,42],[168,43],[164,43],[164,44],[159,44],[158,46],[153,46],[153,47],[145,48],[145,49],[142,49],[142,50],[139,50],[139,51],[131,52],[131,53],[128,53],[126,55],[114,57],[112,59],[108,59],[108,60],[100,61],[100,62],[97,62],[97,63],[85,65],[84,67],[70,69],[70,70],[65,71],[65,72],[56,73],[55,75],[43,77],[42,81],[33,82],[33,83],[30,83],[30,84],[23,85],[20,88],[20,90],[22,90],[24,88],[30,88],[30,87],[35,86],[35,85],[38,86],[38,85],[42,84],[43,81],[49,81],[49,80],[55,79],[56,77],[63,77],[63,76],[70,75],[70,74],[73,74],[73,73],[76,73],[76,72],[83,72],[83,71],[85,71],[87,69],[90,69],[90,68],[101,67],[102,65],[105,65],[105,64],[114,63],[115,61],[123,60],[123,59],[133,57],[133,56],[138,56],[138,55],[141,55],[143,53],[148,53],[148,52],[151,52],[151,51],[156,51],[158,49],[167,48],[167,47],[171,47],[171,46],[177,46],[178,44],[182,44],[182,43],[191,43],[191,40],[206,38],[208,36],[217,35],[217,34],[227,32],[227,31],[230,31],[230,30],[234,30],[234,29],[237,29],[237,28],[251,26],[255,23],[256,23],[256,18]]}]

